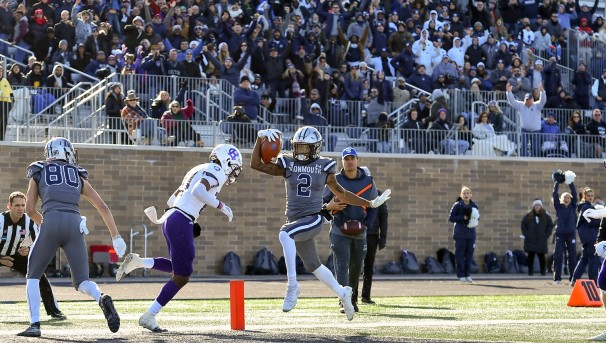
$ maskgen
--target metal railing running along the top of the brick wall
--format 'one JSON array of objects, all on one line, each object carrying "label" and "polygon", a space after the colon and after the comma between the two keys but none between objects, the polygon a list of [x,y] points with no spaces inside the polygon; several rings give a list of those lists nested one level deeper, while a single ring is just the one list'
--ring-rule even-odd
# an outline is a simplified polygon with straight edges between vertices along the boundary
[{"label": "metal railing running along the top of the brick wall", "polygon": [[[187,121],[145,119],[129,126],[121,118],[100,114],[77,125],[47,126],[46,136],[22,135],[22,141],[43,141],[62,135],[74,142],[151,145],[196,148],[231,143],[250,149],[257,131],[274,127],[282,131],[283,150],[292,149],[290,139],[301,125],[234,123],[226,121]],[[57,124],[57,123],[55,123]],[[10,126],[10,125],[9,125]],[[323,151],[339,152],[348,146],[358,152],[386,154],[435,154],[466,156],[530,156],[549,158],[597,158],[606,148],[606,137],[564,133],[521,133],[504,131],[478,135],[473,130],[411,130],[357,126],[318,127],[323,135]]]}]

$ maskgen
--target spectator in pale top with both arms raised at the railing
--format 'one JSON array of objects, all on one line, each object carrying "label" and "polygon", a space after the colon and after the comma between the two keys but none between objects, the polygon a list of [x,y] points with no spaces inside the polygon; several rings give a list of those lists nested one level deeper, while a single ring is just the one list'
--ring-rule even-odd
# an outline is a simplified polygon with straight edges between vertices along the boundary
[{"label": "spectator in pale top with both arms raised at the railing", "polygon": [[518,111],[520,115],[520,127],[522,129],[522,145],[520,156],[528,156],[528,142],[530,141],[531,156],[539,156],[539,134],[541,132],[541,110],[547,102],[547,94],[543,89],[543,84],[539,84],[541,96],[538,102],[535,102],[532,94],[527,93],[524,101],[516,100],[513,96],[513,86],[507,83],[507,100],[511,107]]}]

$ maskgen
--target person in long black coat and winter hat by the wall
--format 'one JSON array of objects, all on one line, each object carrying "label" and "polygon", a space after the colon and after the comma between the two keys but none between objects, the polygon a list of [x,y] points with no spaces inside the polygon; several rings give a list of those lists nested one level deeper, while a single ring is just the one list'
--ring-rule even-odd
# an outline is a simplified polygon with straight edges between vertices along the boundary
[{"label": "person in long black coat and winter hat by the wall", "polygon": [[545,254],[548,251],[548,238],[553,232],[553,219],[545,208],[541,199],[536,198],[532,209],[522,218],[521,230],[524,239],[524,252],[528,254],[528,275],[534,274],[535,256],[539,260],[539,271],[546,275]]}]

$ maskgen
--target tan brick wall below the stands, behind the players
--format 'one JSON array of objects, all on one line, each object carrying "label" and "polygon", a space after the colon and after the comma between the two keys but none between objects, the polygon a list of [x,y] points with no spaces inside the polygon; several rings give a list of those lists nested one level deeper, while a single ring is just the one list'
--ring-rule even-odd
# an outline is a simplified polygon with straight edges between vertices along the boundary
[{"label": "tan brick wall below the stands, behind the players", "polygon": [[[37,143],[5,143],[5,162],[0,168],[0,196],[8,199],[11,191],[26,192],[26,167],[42,159],[43,145]],[[161,228],[149,222],[143,209],[156,206],[161,213],[166,200],[183,175],[194,165],[208,160],[210,149],[168,149],[148,147],[77,146],[80,164],[90,174],[90,182],[112,209],[118,228],[130,243],[129,231],[142,231],[147,225],[153,234],[148,237],[148,256],[166,256],[167,249]],[[207,209],[199,218],[203,228],[196,240],[195,275],[220,274],[223,256],[236,252],[243,267],[252,264],[255,253],[268,247],[276,258],[282,256],[278,230],[285,221],[284,184],[280,178],[262,175],[248,167],[250,150],[243,150],[245,169],[238,182],[223,188],[219,199],[234,211],[229,223],[220,211]],[[340,157],[332,155],[340,162]],[[380,189],[391,188],[389,234],[387,248],[377,254],[377,268],[390,260],[398,260],[401,249],[417,255],[419,261],[436,250],[447,247],[454,251],[450,208],[459,195],[461,185],[468,185],[473,200],[480,208],[480,225],[475,259],[483,265],[486,251],[502,257],[508,249],[520,249],[520,221],[530,210],[536,197],[550,213],[551,173],[554,169],[573,170],[577,187],[590,186],[596,195],[606,197],[606,171],[599,160],[556,159],[478,159],[451,156],[412,156],[361,154]],[[340,168],[340,166],[339,166]],[[562,185],[561,191],[568,191]],[[7,201],[7,200],[5,200]],[[88,217],[92,244],[111,245],[108,230],[101,217],[86,201],[82,214]],[[555,216],[554,216],[555,217]],[[555,219],[555,218],[554,218]],[[135,236],[133,250],[143,254],[142,232]],[[323,261],[330,253],[328,226],[317,237]],[[578,247],[580,250],[580,247]],[[550,240],[550,249],[553,245]],[[65,259],[63,259],[65,261]],[[153,274],[161,274],[155,273]],[[12,275],[6,268],[0,276]]]}]

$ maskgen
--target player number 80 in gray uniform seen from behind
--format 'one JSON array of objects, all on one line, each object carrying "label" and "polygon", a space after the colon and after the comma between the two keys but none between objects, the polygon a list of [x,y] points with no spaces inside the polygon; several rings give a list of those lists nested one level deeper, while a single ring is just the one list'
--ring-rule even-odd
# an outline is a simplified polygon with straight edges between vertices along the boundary
[{"label": "player number 80 in gray uniform seen from behind", "polygon": [[[62,137],[46,143],[45,161],[27,168],[29,188],[25,210],[40,226],[40,235],[31,247],[27,267],[26,295],[30,326],[18,336],[40,337],[40,277],[59,247],[63,248],[72,271],[72,284],[81,293],[97,301],[111,332],[120,328],[120,316],[112,298],[101,293],[99,286],[88,279],[88,253],[84,235],[88,234],[80,216],[80,196],[84,196],[103,218],[112,236],[118,256],[126,252],[114,217],[97,191],[88,182],[88,173],[77,165],[78,157],[72,143]],[[36,209],[42,199],[42,214]],[[44,223],[43,223],[44,215]]]}]

